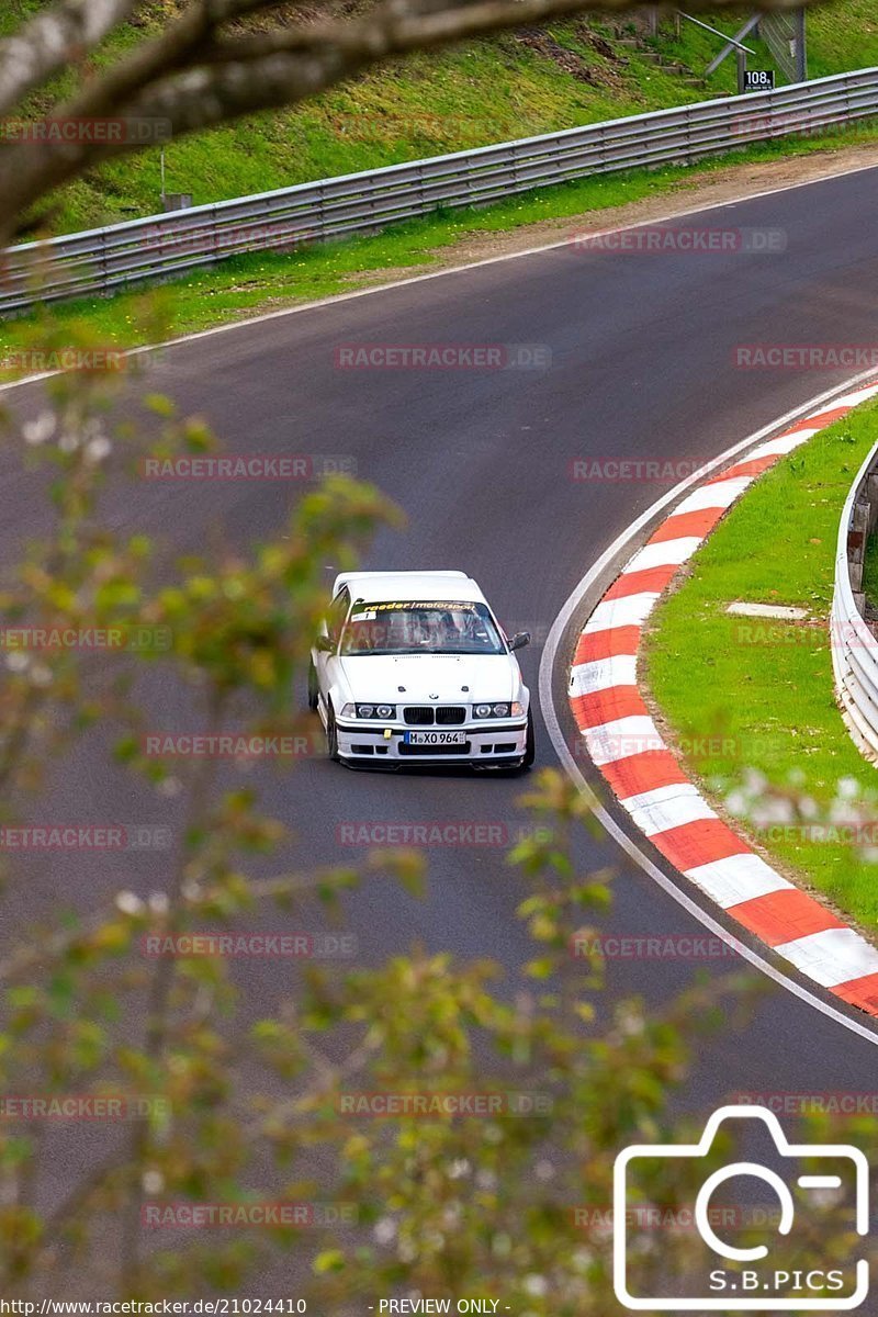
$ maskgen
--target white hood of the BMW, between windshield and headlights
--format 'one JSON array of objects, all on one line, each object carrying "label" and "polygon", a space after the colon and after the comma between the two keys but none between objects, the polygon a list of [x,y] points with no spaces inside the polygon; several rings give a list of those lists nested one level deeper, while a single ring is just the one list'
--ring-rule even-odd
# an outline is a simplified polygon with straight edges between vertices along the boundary
[{"label": "white hood of the BMW, between windshield and headlights", "polygon": [[348,655],[341,668],[353,699],[388,705],[517,699],[521,682],[511,655]]}]

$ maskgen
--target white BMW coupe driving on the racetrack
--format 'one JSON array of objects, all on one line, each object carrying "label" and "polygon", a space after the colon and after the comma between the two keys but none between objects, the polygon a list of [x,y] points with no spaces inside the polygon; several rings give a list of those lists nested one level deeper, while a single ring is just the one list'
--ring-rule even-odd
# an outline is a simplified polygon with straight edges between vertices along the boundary
[{"label": "white BMW coupe driving on the racetrack", "polygon": [[308,703],[330,759],[529,768],[530,693],[463,572],[345,572],[311,652]]}]

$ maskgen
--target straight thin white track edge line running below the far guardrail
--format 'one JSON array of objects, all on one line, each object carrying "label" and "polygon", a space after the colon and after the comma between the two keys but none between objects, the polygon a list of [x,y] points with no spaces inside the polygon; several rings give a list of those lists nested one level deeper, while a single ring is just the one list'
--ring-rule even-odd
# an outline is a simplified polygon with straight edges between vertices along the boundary
[{"label": "straight thin white track edge line running below the far guardrail", "polygon": [[[733,167],[732,162],[732,167]],[[591,238],[606,237],[608,233],[628,233],[632,229],[642,229],[648,224],[670,224],[673,220],[684,220],[690,215],[706,215],[708,211],[721,211],[725,207],[744,205],[746,202],[758,202],[763,196],[777,196],[781,192],[792,192],[799,187],[812,187],[815,183],[829,183],[837,178],[850,178],[854,174],[865,174],[867,170],[878,169],[878,163],[871,165],[854,165],[852,169],[836,170],[829,174],[820,174],[817,178],[807,178],[799,183],[785,183],[779,187],[766,187],[758,192],[744,192],[738,196],[729,196],[724,202],[708,202],[707,205],[692,205],[684,211],[673,211],[669,215],[653,216],[646,220],[633,220],[631,224],[616,224],[609,225],[606,229],[588,230]],[[570,220],[575,221],[587,215],[599,215],[600,212],[583,211],[582,215],[571,215]],[[557,219],[557,216],[554,216]],[[553,219],[553,216],[549,216]],[[536,221],[545,223],[545,221]],[[387,230],[383,230],[387,232]],[[515,232],[515,230],[505,230]],[[261,316],[249,316],[245,320],[234,320],[229,324],[212,325],[209,329],[197,329],[195,333],[180,335],[178,338],[167,338],[163,342],[145,344],[141,348],[126,349],[129,357],[141,356],[147,352],[162,352],[165,348],[176,348],[180,344],[196,342],[199,338],[209,338],[216,333],[228,333],[232,329],[249,329],[253,325],[267,324],[270,320],[282,320],[284,316],[299,315],[301,311],[315,311],[319,307],[328,307],[341,302],[353,302],[355,298],[367,298],[375,292],[388,292],[392,288],[404,288],[409,283],[426,283],[428,279],[441,279],[448,274],[463,274],[467,270],[480,270],[483,266],[488,265],[502,265],[504,261],[517,261],[521,257],[540,255],[542,252],[558,252],[561,248],[571,246],[570,237],[561,238],[558,242],[545,242],[541,246],[525,248],[523,252],[505,252],[503,255],[488,255],[483,257],[480,261],[467,261],[463,265],[449,266],[446,270],[429,270],[425,274],[412,275],[411,279],[394,279],[391,283],[379,283],[373,288],[354,288],[351,292],[336,292],[326,298],[316,298],[313,302],[303,302],[296,307],[282,307],[279,311],[267,311]],[[222,262],[219,262],[221,266]],[[141,290],[141,291],[149,291]],[[0,321],[14,324],[14,320]],[[43,370],[34,375],[26,375],[24,379],[12,379],[9,383],[0,385],[0,392],[5,392],[9,389],[20,389],[22,385],[34,385],[41,379],[51,379],[54,375],[62,374],[61,370]],[[860,377],[857,377],[860,378]]]}]

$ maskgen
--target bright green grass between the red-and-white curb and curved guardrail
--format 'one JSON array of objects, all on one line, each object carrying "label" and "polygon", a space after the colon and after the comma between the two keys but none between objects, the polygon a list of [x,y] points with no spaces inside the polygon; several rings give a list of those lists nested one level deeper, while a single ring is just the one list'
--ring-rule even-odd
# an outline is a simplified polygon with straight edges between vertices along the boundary
[{"label": "bright green grass between the red-and-white curb and curved guardrail", "polygon": [[[877,436],[878,406],[870,403],[778,462],[723,519],[654,614],[648,687],[692,778],[720,807],[748,770],[769,792],[813,801],[821,819],[840,781],[854,780],[874,797],[875,769],[835,702],[828,615],[839,518]],[[733,601],[795,605],[810,619],[729,616]],[[808,830],[798,823],[745,831],[770,863],[874,935],[878,871],[867,851],[832,834],[803,835]]]}]

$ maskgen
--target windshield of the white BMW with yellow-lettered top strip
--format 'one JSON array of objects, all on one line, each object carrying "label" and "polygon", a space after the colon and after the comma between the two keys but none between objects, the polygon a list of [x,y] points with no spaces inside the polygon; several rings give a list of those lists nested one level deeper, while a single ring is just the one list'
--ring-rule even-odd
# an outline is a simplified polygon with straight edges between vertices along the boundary
[{"label": "windshield of the white BMW with yellow-lettered top strip", "polygon": [[505,645],[483,603],[357,601],[341,636],[342,655],[502,655]]}]

